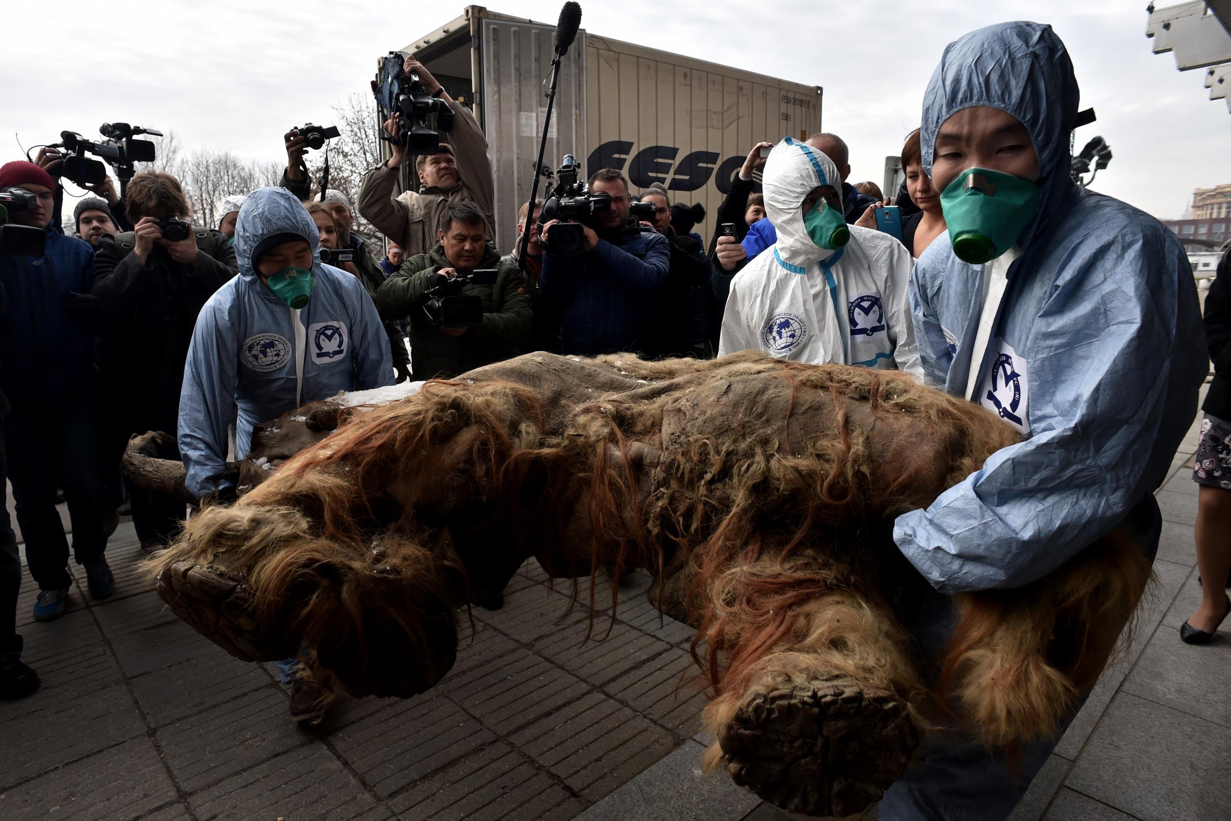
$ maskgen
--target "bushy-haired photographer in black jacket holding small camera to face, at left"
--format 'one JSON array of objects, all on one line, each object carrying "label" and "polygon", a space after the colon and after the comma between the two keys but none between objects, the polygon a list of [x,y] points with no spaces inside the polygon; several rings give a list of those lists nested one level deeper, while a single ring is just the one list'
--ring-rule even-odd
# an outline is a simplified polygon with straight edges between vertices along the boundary
[{"label": "bushy-haired photographer in black jacket holding small camera to face, at left", "polygon": [[[128,183],[128,215],[137,230],[98,242],[92,293],[103,319],[106,464],[119,462],[133,433],[175,431],[197,314],[238,273],[230,241],[188,225],[188,213],[178,180],[161,171],[138,174]],[[128,491],[142,548],[167,545],[183,521],[183,502],[135,486]]]}]

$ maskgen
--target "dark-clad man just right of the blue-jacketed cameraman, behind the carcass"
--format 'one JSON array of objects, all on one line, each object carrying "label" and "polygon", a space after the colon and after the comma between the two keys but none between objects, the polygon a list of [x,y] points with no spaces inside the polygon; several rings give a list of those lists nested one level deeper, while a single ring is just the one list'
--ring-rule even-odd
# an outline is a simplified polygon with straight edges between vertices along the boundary
[{"label": "dark-clad man just right of the blue-jacketed cameraman, behind the carcass", "polygon": [[[649,358],[666,359],[697,354],[705,358],[704,345],[704,293],[693,299],[693,289],[709,284],[709,260],[697,238],[676,234],[671,224],[672,212],[667,194],[651,188],[641,194],[641,202],[654,206],[650,224],[667,238],[670,263],[662,293],[650,308],[650,321],[645,342]],[[696,308],[694,308],[696,306]],[[693,337],[697,337],[696,340]],[[699,348],[693,342],[700,342]]]}]

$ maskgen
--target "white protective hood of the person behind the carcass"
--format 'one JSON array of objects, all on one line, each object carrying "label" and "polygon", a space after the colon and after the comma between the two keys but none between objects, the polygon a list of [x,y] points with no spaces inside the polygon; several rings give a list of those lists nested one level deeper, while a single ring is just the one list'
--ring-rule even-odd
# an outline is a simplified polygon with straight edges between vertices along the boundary
[{"label": "white protective hood of the person behind the carcass", "polygon": [[842,177],[833,160],[806,143],[787,137],[773,146],[761,177],[766,214],[778,230],[774,247],[783,261],[796,266],[827,260],[833,251],[817,247],[804,226],[804,197],[817,186],[833,186],[841,196]]}]

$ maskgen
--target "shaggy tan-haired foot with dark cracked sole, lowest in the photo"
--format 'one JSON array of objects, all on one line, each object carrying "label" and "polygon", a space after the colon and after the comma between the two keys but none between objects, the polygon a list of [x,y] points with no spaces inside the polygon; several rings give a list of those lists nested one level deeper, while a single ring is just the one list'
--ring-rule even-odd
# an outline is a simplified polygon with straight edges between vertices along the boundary
[{"label": "shaggy tan-haired foot with dark cracked sole, lowest in the photo", "polygon": [[732,663],[705,709],[708,767],[806,815],[849,816],[880,800],[920,740],[922,693],[892,617],[849,591],[801,608],[792,638],[745,671]]}]

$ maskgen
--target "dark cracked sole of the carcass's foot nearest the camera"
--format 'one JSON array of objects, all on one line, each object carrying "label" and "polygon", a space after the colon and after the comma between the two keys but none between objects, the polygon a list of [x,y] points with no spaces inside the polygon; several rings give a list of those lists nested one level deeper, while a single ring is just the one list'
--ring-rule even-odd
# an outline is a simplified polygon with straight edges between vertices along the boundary
[{"label": "dark cracked sole of the carcass's foot nearest the camera", "polygon": [[849,679],[747,698],[719,735],[736,784],[792,812],[859,816],[902,774],[918,730],[906,704]]}]

